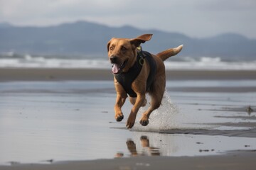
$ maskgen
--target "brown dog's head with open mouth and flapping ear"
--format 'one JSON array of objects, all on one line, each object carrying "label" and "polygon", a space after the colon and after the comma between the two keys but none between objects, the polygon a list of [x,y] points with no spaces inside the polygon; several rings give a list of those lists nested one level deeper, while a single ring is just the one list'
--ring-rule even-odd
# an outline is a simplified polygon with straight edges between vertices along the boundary
[{"label": "brown dog's head with open mouth and flapping ear", "polygon": [[107,43],[107,52],[112,64],[113,74],[127,72],[137,60],[137,50],[141,43],[150,40],[152,34],[140,35],[137,38],[112,38]]}]

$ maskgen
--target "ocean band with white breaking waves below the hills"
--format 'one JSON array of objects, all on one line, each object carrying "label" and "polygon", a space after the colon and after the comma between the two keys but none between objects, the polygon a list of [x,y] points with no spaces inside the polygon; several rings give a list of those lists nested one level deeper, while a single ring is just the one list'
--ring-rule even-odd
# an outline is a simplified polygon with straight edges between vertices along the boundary
[{"label": "ocean band with white breaking waves below the hills", "polygon": [[[223,60],[221,57],[183,57],[178,55],[165,61],[167,70],[256,70],[255,60]],[[65,55],[20,55],[14,52],[0,54],[0,68],[63,68],[110,69],[105,57]]]}]

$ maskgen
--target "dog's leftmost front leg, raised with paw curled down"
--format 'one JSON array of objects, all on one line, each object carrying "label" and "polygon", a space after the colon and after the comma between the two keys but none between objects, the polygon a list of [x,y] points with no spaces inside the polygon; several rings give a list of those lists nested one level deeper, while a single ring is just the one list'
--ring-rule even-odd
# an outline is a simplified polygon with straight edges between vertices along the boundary
[{"label": "dog's leftmost front leg, raised with paw curled down", "polygon": [[117,120],[117,122],[122,121],[124,118],[124,115],[122,113],[122,106],[124,105],[125,99],[127,98],[127,95],[117,94],[117,101],[114,105],[114,118]]}]

